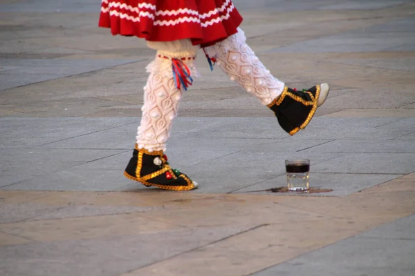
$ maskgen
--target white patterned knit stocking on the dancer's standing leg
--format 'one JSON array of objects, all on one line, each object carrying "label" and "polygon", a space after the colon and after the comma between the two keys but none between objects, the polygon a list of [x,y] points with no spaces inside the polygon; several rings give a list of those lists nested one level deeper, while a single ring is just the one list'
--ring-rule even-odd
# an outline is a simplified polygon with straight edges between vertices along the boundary
[{"label": "white patterned knit stocking on the dancer's standing leg", "polygon": [[149,151],[165,150],[183,89],[183,86],[178,89],[174,81],[172,57],[181,58],[196,73],[193,65],[194,53],[157,52],[156,59],[147,66],[150,75],[144,87],[142,118],[136,137],[138,148]]}]

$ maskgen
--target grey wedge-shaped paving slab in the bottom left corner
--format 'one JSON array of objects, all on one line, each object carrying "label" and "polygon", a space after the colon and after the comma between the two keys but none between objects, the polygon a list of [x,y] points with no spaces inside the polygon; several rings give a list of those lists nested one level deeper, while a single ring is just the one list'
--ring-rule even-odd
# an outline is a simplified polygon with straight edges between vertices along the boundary
[{"label": "grey wedge-shaped paving slab in the bottom left corner", "polygon": [[[86,273],[112,276],[154,264],[243,230],[246,229],[230,227],[186,229],[170,231],[168,235],[147,233],[102,239],[2,246],[0,267],[7,276],[53,276],[57,271],[62,275]],[[154,241],[163,245],[156,246]]]}]

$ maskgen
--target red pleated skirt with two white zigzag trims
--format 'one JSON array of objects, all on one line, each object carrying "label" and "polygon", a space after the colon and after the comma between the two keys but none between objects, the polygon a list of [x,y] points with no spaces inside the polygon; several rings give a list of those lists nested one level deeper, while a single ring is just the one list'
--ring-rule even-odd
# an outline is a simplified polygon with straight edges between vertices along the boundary
[{"label": "red pleated skirt with two white zigzag trims", "polygon": [[99,26],[148,41],[191,39],[210,46],[242,22],[231,0],[102,0]]}]

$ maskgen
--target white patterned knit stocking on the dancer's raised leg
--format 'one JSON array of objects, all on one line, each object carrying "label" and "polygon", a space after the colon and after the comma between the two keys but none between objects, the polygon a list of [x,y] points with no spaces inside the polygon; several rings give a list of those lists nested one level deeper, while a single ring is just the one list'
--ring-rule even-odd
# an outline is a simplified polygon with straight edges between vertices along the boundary
[{"label": "white patterned knit stocking on the dancer's raised leg", "polygon": [[216,59],[216,64],[232,81],[237,81],[262,104],[268,105],[281,95],[285,85],[270,74],[245,41],[245,34],[239,28],[237,34],[205,48],[205,51],[210,58]]}]

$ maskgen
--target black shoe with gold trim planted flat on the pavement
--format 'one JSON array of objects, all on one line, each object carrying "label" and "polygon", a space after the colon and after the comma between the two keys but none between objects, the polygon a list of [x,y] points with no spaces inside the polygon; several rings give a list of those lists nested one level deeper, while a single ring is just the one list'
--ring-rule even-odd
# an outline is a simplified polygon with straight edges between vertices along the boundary
[{"label": "black shoe with gold trim planted flat on the pavement", "polygon": [[163,190],[192,190],[198,186],[187,175],[169,166],[163,150],[149,152],[144,148],[138,149],[137,145],[124,176],[147,187]]}]

